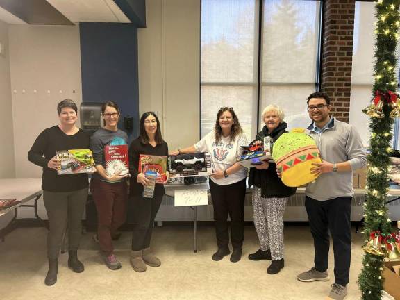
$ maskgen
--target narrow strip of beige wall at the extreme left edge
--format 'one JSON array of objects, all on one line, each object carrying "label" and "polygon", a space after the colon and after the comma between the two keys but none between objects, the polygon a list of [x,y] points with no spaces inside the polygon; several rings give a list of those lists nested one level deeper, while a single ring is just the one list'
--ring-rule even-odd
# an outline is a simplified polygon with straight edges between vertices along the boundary
[{"label": "narrow strip of beige wall at the extreme left edge", "polygon": [[8,51],[8,24],[0,21],[0,178],[13,178],[14,135],[12,130],[12,103],[10,83],[10,52]]}]

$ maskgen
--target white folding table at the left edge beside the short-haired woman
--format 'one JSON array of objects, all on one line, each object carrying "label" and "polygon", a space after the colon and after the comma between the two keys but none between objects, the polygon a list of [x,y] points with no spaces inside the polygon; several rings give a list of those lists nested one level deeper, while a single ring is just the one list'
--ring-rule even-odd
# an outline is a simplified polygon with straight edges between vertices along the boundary
[{"label": "white folding table at the left edge beside the short-haired woman", "polygon": [[[0,230],[0,239],[4,241],[7,233],[15,228],[15,220],[18,216],[19,207],[30,207],[34,209],[35,217],[43,222],[38,215],[38,200],[42,196],[42,179],[0,179],[0,199],[15,198],[20,203],[15,206],[0,210],[0,217],[14,211],[14,217],[7,226]],[[35,199],[33,204],[25,204]]]}]

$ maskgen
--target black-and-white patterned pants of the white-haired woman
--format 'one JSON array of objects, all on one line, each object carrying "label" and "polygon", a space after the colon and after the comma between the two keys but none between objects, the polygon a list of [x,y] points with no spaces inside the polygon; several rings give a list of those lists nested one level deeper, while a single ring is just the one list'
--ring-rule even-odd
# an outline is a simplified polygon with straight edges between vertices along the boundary
[{"label": "black-and-white patterned pants of the white-haired woman", "polygon": [[253,190],[254,226],[261,250],[271,249],[272,260],[283,258],[283,213],[288,199],[263,198],[260,188]]}]

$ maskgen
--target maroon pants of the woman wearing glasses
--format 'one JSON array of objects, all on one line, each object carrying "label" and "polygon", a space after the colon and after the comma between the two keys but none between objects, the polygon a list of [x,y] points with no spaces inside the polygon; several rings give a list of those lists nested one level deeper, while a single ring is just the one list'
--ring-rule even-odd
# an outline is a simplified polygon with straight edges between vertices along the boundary
[{"label": "maroon pants of the woman wearing glasses", "polygon": [[126,181],[108,183],[100,179],[92,179],[90,183],[94,203],[97,208],[97,234],[100,249],[108,256],[114,251],[113,235],[126,220]]}]

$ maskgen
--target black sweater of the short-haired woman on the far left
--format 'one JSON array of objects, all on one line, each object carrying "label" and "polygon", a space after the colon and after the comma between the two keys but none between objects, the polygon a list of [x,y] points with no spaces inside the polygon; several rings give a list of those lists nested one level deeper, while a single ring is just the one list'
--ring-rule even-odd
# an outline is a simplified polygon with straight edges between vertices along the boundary
[{"label": "black sweater of the short-haired woman on the far left", "polygon": [[66,135],[58,125],[44,129],[36,138],[28,160],[43,167],[42,189],[49,192],[71,192],[88,187],[88,174],[57,175],[55,169],[47,167],[56,151],[89,149],[90,135],[79,129],[74,135]]}]

